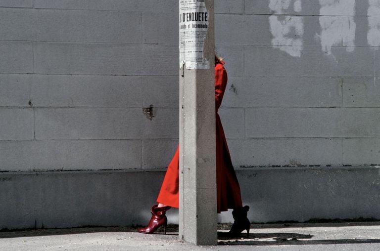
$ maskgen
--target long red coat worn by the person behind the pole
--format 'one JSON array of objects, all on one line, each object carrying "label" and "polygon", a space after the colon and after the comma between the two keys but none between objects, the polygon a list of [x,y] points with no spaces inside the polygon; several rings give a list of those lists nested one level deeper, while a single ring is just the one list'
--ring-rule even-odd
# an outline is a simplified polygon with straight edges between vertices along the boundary
[{"label": "long red coat worn by the person behind the pole", "polygon": [[[218,213],[242,207],[240,187],[231,162],[226,136],[220,121],[218,109],[222,104],[227,86],[227,72],[224,62],[215,64],[215,108],[216,108],[216,188]],[[179,200],[179,147],[166,170],[157,202],[178,208]]]}]

